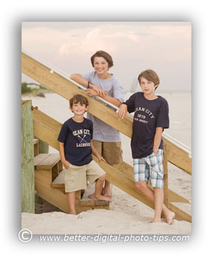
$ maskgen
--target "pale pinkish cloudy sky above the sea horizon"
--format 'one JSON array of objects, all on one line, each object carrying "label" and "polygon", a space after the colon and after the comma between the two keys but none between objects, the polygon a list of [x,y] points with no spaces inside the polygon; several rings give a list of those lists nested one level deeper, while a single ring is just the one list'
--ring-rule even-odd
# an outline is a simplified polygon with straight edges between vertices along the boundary
[{"label": "pale pinkish cloudy sky above the sea horizon", "polygon": [[[158,90],[191,90],[191,22],[22,22],[21,48],[61,72],[89,73],[97,50],[110,55],[109,70],[125,91],[140,90],[137,78],[152,69],[160,77]],[[22,75],[22,81],[31,78]]]}]

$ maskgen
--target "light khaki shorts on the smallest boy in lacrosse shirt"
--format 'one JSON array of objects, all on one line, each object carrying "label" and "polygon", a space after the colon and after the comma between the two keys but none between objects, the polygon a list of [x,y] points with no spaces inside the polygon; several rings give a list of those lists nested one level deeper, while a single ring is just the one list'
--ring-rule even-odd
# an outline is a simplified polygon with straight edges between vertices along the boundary
[{"label": "light khaki shorts on the smallest boy in lacrosse shirt", "polygon": [[94,183],[105,173],[94,160],[83,166],[70,164],[69,168],[65,169],[65,192],[87,189],[87,181]]}]

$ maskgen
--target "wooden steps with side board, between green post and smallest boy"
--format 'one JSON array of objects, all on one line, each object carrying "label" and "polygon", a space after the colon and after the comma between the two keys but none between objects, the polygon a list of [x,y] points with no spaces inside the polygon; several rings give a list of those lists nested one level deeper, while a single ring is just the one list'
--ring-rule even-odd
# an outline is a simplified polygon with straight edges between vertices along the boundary
[{"label": "wooden steps with side board, between green post and smallest boy", "polygon": [[[38,139],[34,140],[34,167],[36,195],[53,204],[63,212],[69,213],[67,193],[64,183],[54,183],[63,170],[59,154],[38,154]],[[89,209],[109,209],[106,201],[83,201],[84,190],[75,193],[76,211],[84,212]]]}]

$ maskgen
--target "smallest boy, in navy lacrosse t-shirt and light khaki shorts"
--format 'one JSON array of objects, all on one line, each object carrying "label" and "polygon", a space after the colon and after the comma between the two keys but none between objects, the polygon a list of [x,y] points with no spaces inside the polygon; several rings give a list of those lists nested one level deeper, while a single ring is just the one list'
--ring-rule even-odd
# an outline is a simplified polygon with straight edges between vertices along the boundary
[{"label": "smallest boy, in navy lacrosse t-shirt and light khaki shorts", "polygon": [[68,193],[70,214],[76,214],[75,191],[87,189],[87,181],[95,183],[95,201],[110,201],[109,197],[101,195],[106,172],[92,160],[93,153],[99,161],[106,162],[92,145],[93,124],[84,118],[87,109],[87,98],[82,95],[72,97],[70,110],[74,116],[62,125],[58,135],[61,162],[65,166],[65,192]]}]

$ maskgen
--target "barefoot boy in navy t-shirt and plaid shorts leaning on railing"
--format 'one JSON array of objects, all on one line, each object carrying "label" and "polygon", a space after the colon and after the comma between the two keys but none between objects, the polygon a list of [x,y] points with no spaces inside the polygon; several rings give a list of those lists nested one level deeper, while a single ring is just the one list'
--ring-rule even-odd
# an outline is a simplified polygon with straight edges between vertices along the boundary
[{"label": "barefoot boy in navy t-shirt and plaid shorts leaning on railing", "polygon": [[[155,95],[160,84],[153,70],[143,71],[138,76],[143,92],[136,92],[121,105],[118,118],[127,111],[135,112],[132,125],[132,158],[136,188],[155,203],[152,222],[160,222],[161,212],[166,222],[172,224],[175,213],[163,204],[163,129],[169,128],[169,107],[165,98]],[[148,186],[148,181],[154,189]]]}]

